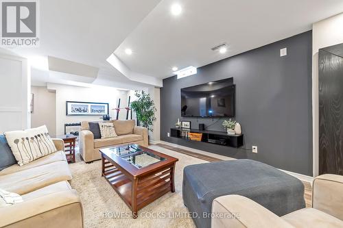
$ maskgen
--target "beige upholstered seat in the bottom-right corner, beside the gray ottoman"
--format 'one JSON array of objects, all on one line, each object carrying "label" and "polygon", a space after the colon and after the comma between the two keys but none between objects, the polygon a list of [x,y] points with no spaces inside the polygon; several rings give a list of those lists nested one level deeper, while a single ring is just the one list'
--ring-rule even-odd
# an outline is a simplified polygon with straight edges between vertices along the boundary
[{"label": "beige upholstered seat in the bottom-right corner, beside the gray ottoman", "polygon": [[[282,217],[246,197],[238,195],[218,197],[212,204],[213,215],[217,216],[213,216],[211,227],[343,227],[342,192],[343,176],[320,175],[314,179],[312,207],[297,210]],[[222,218],[219,218],[220,215]],[[226,218],[223,218],[224,215]]]}]

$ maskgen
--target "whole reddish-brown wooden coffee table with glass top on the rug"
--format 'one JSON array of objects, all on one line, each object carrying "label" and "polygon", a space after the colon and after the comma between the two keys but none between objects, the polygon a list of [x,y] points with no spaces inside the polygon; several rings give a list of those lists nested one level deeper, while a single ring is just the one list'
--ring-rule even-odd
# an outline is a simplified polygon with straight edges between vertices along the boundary
[{"label": "whole reddish-brown wooden coffee table with glass top on the rug", "polygon": [[138,210],[167,192],[175,192],[178,159],[138,144],[100,149],[102,176],[137,218]]}]

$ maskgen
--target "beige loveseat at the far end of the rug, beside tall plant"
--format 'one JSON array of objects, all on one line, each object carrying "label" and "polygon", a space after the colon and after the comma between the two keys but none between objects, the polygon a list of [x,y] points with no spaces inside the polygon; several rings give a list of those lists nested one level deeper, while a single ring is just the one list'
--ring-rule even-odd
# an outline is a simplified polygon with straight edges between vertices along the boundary
[{"label": "beige loveseat at the far end of the rug, beside tall plant", "polygon": [[135,143],[143,147],[148,146],[147,129],[137,127],[134,120],[108,121],[113,122],[118,137],[94,139],[89,131],[88,121],[82,121],[80,132],[80,155],[84,162],[93,162],[102,158],[99,149],[113,147],[119,144]]}]

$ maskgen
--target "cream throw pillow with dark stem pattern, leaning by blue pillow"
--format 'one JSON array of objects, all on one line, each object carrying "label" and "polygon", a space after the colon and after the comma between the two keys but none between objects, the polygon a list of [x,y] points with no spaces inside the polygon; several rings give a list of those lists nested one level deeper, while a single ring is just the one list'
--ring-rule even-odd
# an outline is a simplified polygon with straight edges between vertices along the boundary
[{"label": "cream throw pillow with dark stem pattern, leaning by blue pillow", "polygon": [[57,151],[45,125],[25,131],[8,131],[5,137],[19,166]]}]

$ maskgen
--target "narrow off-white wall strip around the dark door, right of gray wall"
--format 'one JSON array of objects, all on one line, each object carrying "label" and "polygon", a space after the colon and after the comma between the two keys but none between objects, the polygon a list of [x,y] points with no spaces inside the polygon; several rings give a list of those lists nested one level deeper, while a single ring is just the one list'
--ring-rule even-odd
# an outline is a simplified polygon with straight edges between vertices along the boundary
[{"label": "narrow off-white wall strip around the dark door, right of gray wall", "polygon": [[323,47],[343,42],[343,14],[314,23],[312,30],[312,118],[314,137],[314,177],[318,176],[319,104],[318,104],[318,51]]}]

